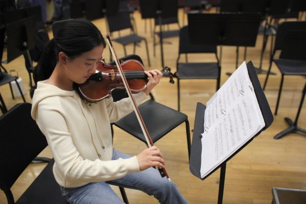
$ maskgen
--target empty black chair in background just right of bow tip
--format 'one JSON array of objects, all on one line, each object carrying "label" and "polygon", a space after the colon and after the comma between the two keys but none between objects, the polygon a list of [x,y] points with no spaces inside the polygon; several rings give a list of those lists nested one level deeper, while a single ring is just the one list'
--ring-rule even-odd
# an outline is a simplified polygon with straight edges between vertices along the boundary
[{"label": "empty black chair in background just right of bow tip", "polygon": [[107,16],[107,21],[108,21],[110,33],[113,33],[116,31],[119,32],[120,30],[124,30],[124,29],[131,30],[132,34],[120,36],[120,32],[119,32],[119,37],[113,39],[113,41],[118,42],[123,45],[125,56],[126,56],[126,48],[125,48],[126,45],[134,44],[133,53],[135,54],[136,45],[140,43],[141,41],[145,42],[146,53],[147,53],[147,58],[148,58],[148,65],[151,66],[147,40],[144,37],[141,37],[134,32],[134,29],[131,23],[130,13],[128,11],[120,11],[116,15]]}]

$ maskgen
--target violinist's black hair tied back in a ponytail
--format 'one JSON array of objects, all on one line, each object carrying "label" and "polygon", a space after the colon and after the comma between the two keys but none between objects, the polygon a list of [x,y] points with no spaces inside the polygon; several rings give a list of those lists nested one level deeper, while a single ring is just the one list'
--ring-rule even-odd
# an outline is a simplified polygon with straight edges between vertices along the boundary
[{"label": "violinist's black hair tied back in a ponytail", "polygon": [[106,42],[92,22],[86,19],[68,20],[45,47],[33,72],[35,84],[49,79],[59,61],[60,52],[65,53],[70,59],[75,59],[98,45],[105,47]]}]

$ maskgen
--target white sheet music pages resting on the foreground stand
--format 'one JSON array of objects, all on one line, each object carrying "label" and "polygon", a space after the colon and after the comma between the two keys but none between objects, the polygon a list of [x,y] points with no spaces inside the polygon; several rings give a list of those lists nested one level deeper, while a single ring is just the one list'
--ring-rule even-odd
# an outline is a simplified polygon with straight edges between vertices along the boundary
[{"label": "white sheet music pages resting on the foreground stand", "polygon": [[265,126],[245,62],[208,101],[203,125],[202,178]]}]

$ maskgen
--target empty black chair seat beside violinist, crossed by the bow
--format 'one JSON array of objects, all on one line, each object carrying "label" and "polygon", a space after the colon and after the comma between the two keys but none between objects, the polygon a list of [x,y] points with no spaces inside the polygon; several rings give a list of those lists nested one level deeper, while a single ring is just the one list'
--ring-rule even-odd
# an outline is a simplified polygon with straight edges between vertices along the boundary
[{"label": "empty black chair seat beside violinist, crossed by the bow", "polygon": [[[158,141],[188,119],[186,114],[159,104],[154,100],[145,101],[139,106],[139,111],[153,142]],[[146,143],[134,112],[114,124]]]}]

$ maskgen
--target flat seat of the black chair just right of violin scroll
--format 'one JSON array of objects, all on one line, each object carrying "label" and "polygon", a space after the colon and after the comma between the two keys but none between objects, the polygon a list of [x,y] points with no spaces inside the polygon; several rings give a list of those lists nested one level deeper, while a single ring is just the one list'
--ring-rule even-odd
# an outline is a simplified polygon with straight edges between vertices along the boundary
[{"label": "flat seat of the black chair just right of violin scroll", "polygon": [[179,63],[180,79],[218,79],[217,63]]}]

